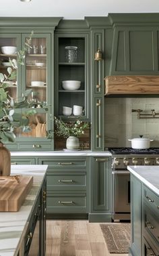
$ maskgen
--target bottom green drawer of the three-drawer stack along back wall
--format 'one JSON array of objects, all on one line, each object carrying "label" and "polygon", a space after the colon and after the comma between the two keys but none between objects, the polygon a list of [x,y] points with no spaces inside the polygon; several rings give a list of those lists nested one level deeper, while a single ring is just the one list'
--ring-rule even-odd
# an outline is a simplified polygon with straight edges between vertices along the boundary
[{"label": "bottom green drawer of the three-drawer stack along back wall", "polygon": [[47,193],[47,213],[86,213],[85,193]]}]

